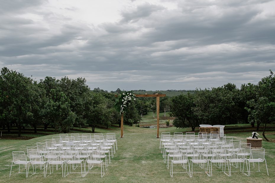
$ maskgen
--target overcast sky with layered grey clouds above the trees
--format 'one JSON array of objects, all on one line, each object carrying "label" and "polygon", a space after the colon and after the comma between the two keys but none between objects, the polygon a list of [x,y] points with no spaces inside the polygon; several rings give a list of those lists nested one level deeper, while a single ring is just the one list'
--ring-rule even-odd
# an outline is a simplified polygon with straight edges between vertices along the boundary
[{"label": "overcast sky with layered grey clouds above the trees", "polygon": [[0,67],[91,89],[257,84],[275,71],[275,1],[0,0]]}]

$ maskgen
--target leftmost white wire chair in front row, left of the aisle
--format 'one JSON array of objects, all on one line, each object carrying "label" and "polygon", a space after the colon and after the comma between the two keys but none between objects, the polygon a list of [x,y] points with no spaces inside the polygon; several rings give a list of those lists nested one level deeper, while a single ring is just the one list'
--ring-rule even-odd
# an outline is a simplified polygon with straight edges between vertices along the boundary
[{"label": "leftmost white wire chair in front row, left of the aisle", "polygon": [[[28,166],[30,166],[30,161],[27,161],[27,157],[24,151],[12,151],[12,165],[19,165],[19,172],[18,173],[23,173],[20,172],[20,165],[24,165],[25,170],[26,170],[26,177],[28,177]],[[12,173],[12,167],[11,171],[9,172],[9,177],[11,177]]]}]

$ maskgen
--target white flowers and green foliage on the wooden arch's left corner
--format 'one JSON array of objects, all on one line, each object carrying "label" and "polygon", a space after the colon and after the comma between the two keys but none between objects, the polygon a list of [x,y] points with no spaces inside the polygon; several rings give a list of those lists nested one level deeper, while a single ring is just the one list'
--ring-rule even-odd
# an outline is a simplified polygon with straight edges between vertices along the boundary
[{"label": "white flowers and green foliage on the wooden arch's left corner", "polygon": [[120,114],[126,110],[128,105],[131,104],[131,101],[136,100],[135,94],[133,93],[133,91],[130,91],[130,92],[123,91],[117,97],[118,99],[115,105],[117,110],[119,110]]}]

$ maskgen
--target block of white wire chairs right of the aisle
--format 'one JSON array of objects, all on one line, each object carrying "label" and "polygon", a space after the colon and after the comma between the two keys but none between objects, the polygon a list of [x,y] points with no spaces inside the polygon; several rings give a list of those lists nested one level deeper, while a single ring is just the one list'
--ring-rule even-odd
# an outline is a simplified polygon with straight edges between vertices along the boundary
[{"label": "block of white wire chairs right of the aisle", "polygon": [[[201,173],[207,173],[208,176],[212,176],[212,164],[221,168],[221,171],[228,176],[231,176],[231,166],[238,168],[240,166],[240,172],[247,176],[250,176],[250,163],[258,162],[258,170],[260,171],[259,163],[265,162],[265,149],[251,149],[251,144],[240,143],[240,140],[231,140],[232,137],[224,137],[225,140],[216,141],[187,141],[186,139],[180,139],[177,141],[175,138],[165,138],[167,133],[162,134],[164,137],[161,140],[162,155],[164,162],[167,164],[167,168],[170,165],[170,175],[173,177],[173,166],[180,164],[183,169],[186,170],[190,177],[193,176],[193,164],[198,164],[201,169]],[[174,135],[175,136],[175,135]],[[167,135],[169,137],[169,135]],[[222,138],[222,139],[224,139]],[[229,140],[230,139],[230,140]],[[241,163],[243,165],[241,166]],[[244,171],[246,164],[247,171]],[[190,168],[191,166],[191,168]],[[228,173],[226,173],[228,169]],[[266,164],[266,171],[268,175],[268,169]],[[245,173],[247,172],[247,173]],[[199,172],[196,172],[199,173]]]}]

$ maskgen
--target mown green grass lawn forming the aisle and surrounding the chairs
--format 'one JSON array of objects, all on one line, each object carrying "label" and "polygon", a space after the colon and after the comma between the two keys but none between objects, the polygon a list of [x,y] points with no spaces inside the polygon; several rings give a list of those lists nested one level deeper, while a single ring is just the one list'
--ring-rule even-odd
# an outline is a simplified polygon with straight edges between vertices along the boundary
[{"label": "mown green grass lawn forming the aisle and surrounding the chairs", "polygon": [[[249,125],[228,125],[224,129],[227,135],[235,136],[246,142],[245,137],[251,135],[251,131],[236,130],[237,128],[246,128]],[[273,127],[272,127],[273,128]],[[271,129],[272,129],[271,128]],[[196,130],[198,130],[196,128]],[[265,173],[251,172],[247,177],[242,173],[232,173],[231,177],[223,173],[213,173],[213,177],[208,177],[204,173],[193,174],[189,177],[187,174],[174,174],[171,178],[166,164],[163,162],[161,151],[159,150],[159,140],[156,138],[156,128],[138,128],[124,125],[124,138],[119,138],[120,129],[113,127],[112,130],[96,129],[98,133],[108,131],[117,134],[118,150],[111,159],[108,170],[105,171],[103,178],[99,174],[88,174],[81,177],[81,174],[69,174],[62,178],[61,174],[51,174],[43,178],[43,174],[35,174],[25,178],[25,174],[17,174],[18,166],[12,169],[12,176],[9,178],[9,171],[12,161],[12,151],[25,151],[27,146],[34,146],[36,142],[44,142],[46,139],[56,135],[47,135],[33,138],[30,140],[0,140],[0,182],[274,182],[275,180],[275,143],[263,141],[263,147],[266,148],[266,160],[269,176],[266,175],[265,166],[260,166]],[[176,129],[160,128],[161,132],[187,132],[190,128]],[[255,130],[254,130],[255,131]],[[268,131],[274,134],[275,130]],[[261,135],[261,133],[260,133]],[[31,169],[30,173],[31,174]]]}]

